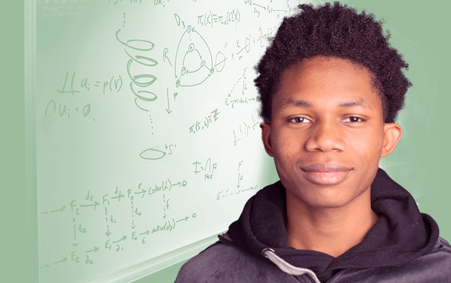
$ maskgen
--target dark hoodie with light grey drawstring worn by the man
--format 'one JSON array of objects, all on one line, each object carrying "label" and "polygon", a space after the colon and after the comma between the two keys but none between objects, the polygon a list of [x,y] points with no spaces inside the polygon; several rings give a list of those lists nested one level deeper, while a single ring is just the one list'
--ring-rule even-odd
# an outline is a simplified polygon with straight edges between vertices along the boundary
[{"label": "dark hoodie with light grey drawstring worn by the man", "polygon": [[451,246],[413,197],[379,169],[371,186],[378,222],[339,257],[287,247],[280,181],[246,202],[219,241],[180,269],[187,282],[451,282]]}]

